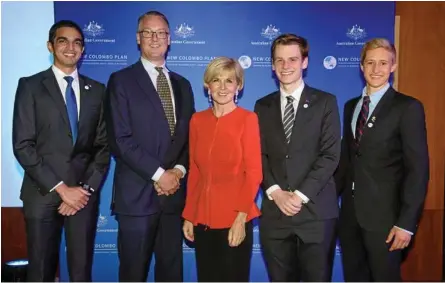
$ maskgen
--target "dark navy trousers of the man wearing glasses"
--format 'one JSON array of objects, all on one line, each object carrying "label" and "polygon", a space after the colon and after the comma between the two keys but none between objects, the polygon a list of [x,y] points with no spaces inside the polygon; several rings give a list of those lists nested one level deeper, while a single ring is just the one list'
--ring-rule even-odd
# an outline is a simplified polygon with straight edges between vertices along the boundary
[{"label": "dark navy trousers of the man wearing glasses", "polygon": [[159,212],[118,215],[119,281],[147,281],[155,254],[155,281],[182,282],[182,218]]}]

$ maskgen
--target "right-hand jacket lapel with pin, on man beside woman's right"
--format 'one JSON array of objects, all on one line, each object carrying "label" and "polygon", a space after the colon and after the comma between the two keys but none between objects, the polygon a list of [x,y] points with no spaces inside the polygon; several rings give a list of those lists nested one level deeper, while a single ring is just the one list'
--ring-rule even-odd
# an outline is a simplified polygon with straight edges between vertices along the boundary
[{"label": "right-hand jacket lapel with pin, on man beside woman's right", "polygon": [[316,98],[317,96],[311,91],[310,87],[305,85],[303,92],[301,93],[300,101],[298,102],[289,148],[293,147],[299,140],[300,129],[306,127],[306,121],[311,115],[310,107],[315,102]]}]

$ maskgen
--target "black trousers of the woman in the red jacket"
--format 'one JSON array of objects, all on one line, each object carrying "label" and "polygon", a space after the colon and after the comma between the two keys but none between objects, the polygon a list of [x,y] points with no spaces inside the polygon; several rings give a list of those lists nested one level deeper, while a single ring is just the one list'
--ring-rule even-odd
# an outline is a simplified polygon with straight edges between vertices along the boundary
[{"label": "black trousers of the woman in the red jacket", "polygon": [[249,282],[253,225],[246,223],[246,238],[230,247],[229,228],[195,226],[195,254],[199,282]]}]

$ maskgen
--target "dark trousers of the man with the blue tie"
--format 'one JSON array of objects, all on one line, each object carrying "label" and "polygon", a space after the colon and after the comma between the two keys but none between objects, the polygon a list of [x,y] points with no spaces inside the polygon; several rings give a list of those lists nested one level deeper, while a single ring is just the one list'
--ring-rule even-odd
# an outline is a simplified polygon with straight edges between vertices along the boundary
[{"label": "dark trousers of the man with the blue tie", "polygon": [[91,282],[98,214],[97,196],[92,196],[88,204],[73,216],[60,215],[57,211],[59,206],[60,203],[23,203],[29,260],[27,281],[54,282],[62,227],[65,226],[70,281]]}]

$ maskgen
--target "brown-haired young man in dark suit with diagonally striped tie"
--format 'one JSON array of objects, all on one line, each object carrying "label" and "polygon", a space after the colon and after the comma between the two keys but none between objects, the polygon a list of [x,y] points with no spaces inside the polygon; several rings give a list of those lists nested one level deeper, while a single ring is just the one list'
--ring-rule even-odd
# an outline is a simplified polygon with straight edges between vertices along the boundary
[{"label": "brown-haired young man in dark suit with diagonally striped tie", "polygon": [[255,105],[261,132],[265,197],[260,240],[271,281],[329,281],[338,216],[333,173],[340,158],[336,98],[303,81],[306,39],[272,43],[280,90]]}]

